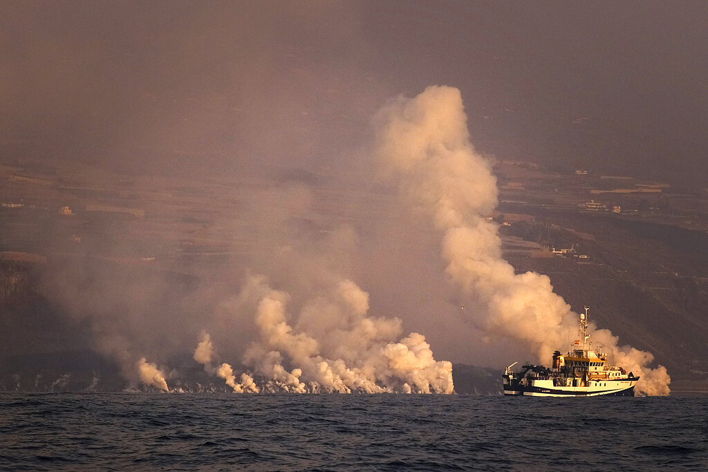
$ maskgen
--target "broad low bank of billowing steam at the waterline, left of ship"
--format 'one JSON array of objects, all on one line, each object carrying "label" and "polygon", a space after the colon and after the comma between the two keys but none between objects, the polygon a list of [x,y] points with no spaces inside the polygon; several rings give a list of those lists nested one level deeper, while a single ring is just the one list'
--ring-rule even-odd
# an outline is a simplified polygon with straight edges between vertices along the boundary
[{"label": "broad low bank of billowing steam at the waterline, left of ship", "polygon": [[[254,296],[255,295],[255,296]],[[256,300],[259,340],[244,364],[290,392],[452,393],[452,364],[433,358],[423,335],[398,343],[398,318],[366,316],[368,295],[342,280],[305,301],[295,328],[286,311],[290,296],[251,277],[241,295]],[[290,372],[283,365],[292,366]]]}]

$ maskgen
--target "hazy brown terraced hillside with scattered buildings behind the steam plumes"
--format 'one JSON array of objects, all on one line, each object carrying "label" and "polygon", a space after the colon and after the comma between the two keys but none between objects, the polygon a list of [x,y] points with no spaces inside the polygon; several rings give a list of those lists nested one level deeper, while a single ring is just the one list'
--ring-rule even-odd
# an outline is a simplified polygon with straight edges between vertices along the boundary
[{"label": "hazy brown terraced hillside with scattered buildings behind the steam plumes", "polygon": [[[68,363],[52,356],[45,366],[31,357],[96,350],[101,333],[152,352],[171,369],[173,386],[224,388],[190,352],[207,329],[222,359],[241,357],[256,332],[244,324],[250,313],[234,306],[256,270],[268,271],[274,285],[303,290],[323,281],[308,280],[322,267],[346,270],[365,281],[372,315],[399,317],[406,331],[426,335],[436,359],[501,369],[532,357],[464,321],[435,232],[401,212],[380,183],[355,186],[284,168],[239,179],[156,178],[65,161],[3,172],[6,389],[50,388],[62,379],[72,388],[123,388],[113,343],[85,362],[67,353]],[[706,195],[661,185],[644,192],[657,184],[629,178],[622,184],[636,191],[606,193],[599,175],[549,173],[533,163],[500,162],[495,173],[501,204],[489,218],[501,225],[503,254],[516,272],[549,275],[574,310],[589,304],[598,326],[655,355],[673,384],[702,388]],[[588,210],[590,201],[604,207]],[[64,378],[70,367],[73,379]]]}]

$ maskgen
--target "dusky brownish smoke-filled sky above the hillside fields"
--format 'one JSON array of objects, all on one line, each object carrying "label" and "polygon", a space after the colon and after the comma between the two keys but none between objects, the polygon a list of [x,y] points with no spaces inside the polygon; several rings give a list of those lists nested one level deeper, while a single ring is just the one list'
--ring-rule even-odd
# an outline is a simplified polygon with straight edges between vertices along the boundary
[{"label": "dusky brownish smoke-filled sky above the hillside fields", "polygon": [[485,153],[701,183],[706,24],[704,1],[6,1],[0,158],[359,172],[381,103],[438,84]]}]

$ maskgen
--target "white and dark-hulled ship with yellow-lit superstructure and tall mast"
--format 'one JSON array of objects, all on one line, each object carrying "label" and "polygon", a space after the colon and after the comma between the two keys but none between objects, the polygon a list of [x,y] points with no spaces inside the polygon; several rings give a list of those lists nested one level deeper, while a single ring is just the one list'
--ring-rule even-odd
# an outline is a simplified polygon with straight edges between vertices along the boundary
[{"label": "white and dark-hulled ship with yellow-lit superstructure and tall mast", "polygon": [[579,337],[566,355],[553,353],[552,367],[526,363],[514,372],[518,362],[506,368],[504,395],[524,396],[634,396],[639,376],[627,373],[622,367],[607,365],[602,347],[593,349],[588,342],[588,306],[580,313]]}]

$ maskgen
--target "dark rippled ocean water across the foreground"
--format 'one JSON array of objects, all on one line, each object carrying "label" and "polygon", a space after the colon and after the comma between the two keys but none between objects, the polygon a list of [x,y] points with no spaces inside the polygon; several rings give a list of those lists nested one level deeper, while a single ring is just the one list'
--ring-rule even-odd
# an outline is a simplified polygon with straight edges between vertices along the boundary
[{"label": "dark rippled ocean water across the foreground", "polygon": [[708,398],[1,393],[0,470],[708,470]]}]

